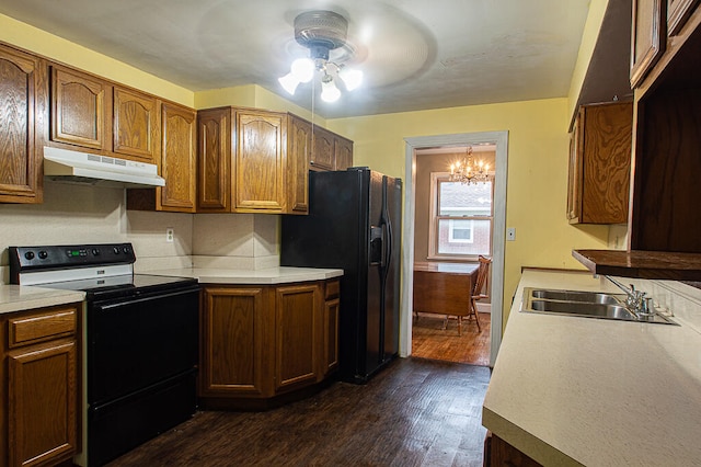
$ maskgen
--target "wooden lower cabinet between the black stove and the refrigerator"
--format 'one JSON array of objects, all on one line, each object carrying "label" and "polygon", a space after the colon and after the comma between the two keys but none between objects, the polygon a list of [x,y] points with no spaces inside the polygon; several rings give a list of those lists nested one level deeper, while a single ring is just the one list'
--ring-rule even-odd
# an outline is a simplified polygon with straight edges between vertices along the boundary
[{"label": "wooden lower cabinet between the black stove and the refrigerator", "polygon": [[326,301],[325,291],[325,281],[205,286],[202,406],[266,408],[322,383],[337,366],[337,296]]}]

